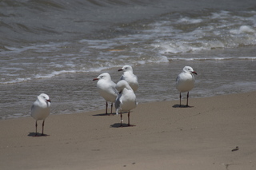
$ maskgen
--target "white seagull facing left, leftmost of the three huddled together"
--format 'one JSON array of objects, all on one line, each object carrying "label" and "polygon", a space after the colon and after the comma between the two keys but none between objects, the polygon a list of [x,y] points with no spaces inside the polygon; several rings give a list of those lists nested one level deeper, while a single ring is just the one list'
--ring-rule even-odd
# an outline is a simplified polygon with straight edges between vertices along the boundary
[{"label": "white seagull facing left, leftmost of the three huddled together", "polygon": [[113,102],[118,97],[118,90],[115,89],[115,83],[111,80],[109,73],[102,73],[97,78],[94,78],[93,81],[97,82],[98,93],[106,101],[106,115],[107,115],[107,102],[111,102],[111,114],[113,109]]}]

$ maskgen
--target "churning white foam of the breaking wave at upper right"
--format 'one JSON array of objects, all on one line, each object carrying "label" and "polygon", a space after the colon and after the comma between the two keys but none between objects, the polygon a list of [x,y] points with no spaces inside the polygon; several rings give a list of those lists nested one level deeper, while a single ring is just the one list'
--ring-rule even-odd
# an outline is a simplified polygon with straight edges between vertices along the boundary
[{"label": "churning white foam of the breaking wave at upper right", "polygon": [[[236,22],[233,22],[234,20]],[[179,25],[174,27],[173,25],[177,23]],[[197,26],[198,23],[200,26]],[[160,41],[154,41],[151,45],[162,54],[194,53],[255,45],[255,23],[255,19],[251,17],[234,15],[229,11],[220,11],[198,18],[183,16],[178,21],[170,19],[170,21],[155,23],[158,32],[161,32],[161,29],[166,32],[168,24],[172,31],[169,31],[169,36],[158,38]],[[174,34],[175,32],[178,34]]]}]

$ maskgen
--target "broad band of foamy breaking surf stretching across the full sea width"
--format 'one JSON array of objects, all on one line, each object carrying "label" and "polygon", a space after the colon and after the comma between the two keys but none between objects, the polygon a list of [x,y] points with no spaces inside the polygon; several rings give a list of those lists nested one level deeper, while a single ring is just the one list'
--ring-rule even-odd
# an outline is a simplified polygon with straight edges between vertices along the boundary
[{"label": "broad band of foamy breaking surf stretching across the full sea width", "polygon": [[[149,23],[137,23],[138,26],[117,26],[114,31],[120,34],[113,38],[6,46],[7,50],[0,52],[0,84],[50,78],[62,73],[100,72],[126,64],[254,60],[253,57],[209,57],[200,53],[256,45],[255,14],[255,11],[225,10],[195,15],[166,14]],[[182,57],[190,53],[198,55]]]}]

